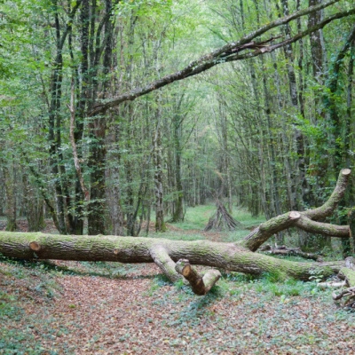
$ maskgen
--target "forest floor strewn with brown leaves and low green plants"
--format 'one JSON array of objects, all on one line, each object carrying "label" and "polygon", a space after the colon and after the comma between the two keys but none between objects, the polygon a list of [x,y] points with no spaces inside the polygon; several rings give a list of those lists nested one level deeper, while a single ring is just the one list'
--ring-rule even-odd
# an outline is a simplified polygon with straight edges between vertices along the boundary
[{"label": "forest floor strewn with brown leaves and low green plants", "polygon": [[[158,237],[231,241],[246,233],[201,233],[209,213],[194,213],[200,222]],[[331,292],[314,281],[224,272],[207,296],[195,296],[155,264],[0,256],[0,354],[354,353],[355,313]]]}]

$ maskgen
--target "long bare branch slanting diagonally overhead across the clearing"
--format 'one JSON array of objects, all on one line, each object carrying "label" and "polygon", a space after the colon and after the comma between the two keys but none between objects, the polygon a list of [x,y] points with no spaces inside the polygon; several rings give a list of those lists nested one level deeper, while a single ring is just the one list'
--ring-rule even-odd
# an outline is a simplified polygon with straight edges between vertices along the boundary
[{"label": "long bare branch slanting diagonally overhead across the clearing", "polygon": [[[340,1],[340,0],[330,0],[328,2],[324,2],[322,4],[318,4],[318,5],[311,6],[306,9],[294,12],[291,15],[284,16],[280,19],[273,20],[272,22],[268,23],[267,25],[264,25],[263,27],[258,28],[256,31],[249,33],[247,36],[242,37],[239,41],[236,41],[233,43],[227,43],[227,44],[225,44],[225,46],[218,48],[216,51],[211,51],[208,54],[203,55],[200,59],[193,60],[193,62],[191,62],[187,67],[183,68],[180,71],[177,71],[174,74],[166,75],[162,79],[154,81],[153,83],[149,83],[143,88],[136,88],[134,90],[125,92],[115,99],[112,99],[110,101],[106,101],[105,103],[101,103],[101,104],[95,106],[92,109],[90,115],[93,116],[95,114],[105,112],[107,109],[109,109],[111,107],[119,106],[124,101],[132,101],[132,100],[137,99],[143,95],[146,95],[149,92],[160,89],[170,83],[174,83],[176,81],[183,80],[189,76],[200,74],[200,73],[208,70],[211,67],[215,67],[218,64],[224,63],[226,61],[225,58],[221,58],[221,55],[223,55],[224,53],[227,53],[228,51],[239,51],[242,49],[247,49],[248,46],[246,48],[242,48],[242,46],[247,43],[251,43],[253,41],[253,39],[255,39],[256,37],[262,36],[264,33],[266,33],[267,31],[270,31],[272,28],[278,28],[281,25],[285,25],[286,23],[288,23],[291,20],[296,20],[296,19],[298,19],[302,16],[305,16],[305,15],[308,15],[312,12],[318,12],[319,10],[324,9],[327,6],[330,6],[332,4],[335,4],[338,1]],[[343,15],[343,16],[345,16],[345,15]],[[335,19],[333,19],[333,17],[328,18],[328,19],[335,20]],[[326,25],[326,23],[324,24],[324,26],[325,25]],[[317,29],[319,29],[319,28],[317,27]],[[304,35],[304,36],[306,36],[306,35]],[[296,39],[295,39],[295,41],[296,41]],[[285,43],[287,43],[287,41],[285,41]],[[279,45],[282,46],[285,44],[281,45],[279,43]],[[264,51],[265,51],[264,48],[262,48],[261,50],[257,50],[257,51],[252,52],[252,54],[260,55],[260,54],[264,53]],[[240,60],[240,59],[245,59],[248,57],[251,57],[251,56],[248,55],[248,53],[247,53],[247,55],[241,56],[241,58],[236,57],[235,59],[229,59],[227,61]]]}]

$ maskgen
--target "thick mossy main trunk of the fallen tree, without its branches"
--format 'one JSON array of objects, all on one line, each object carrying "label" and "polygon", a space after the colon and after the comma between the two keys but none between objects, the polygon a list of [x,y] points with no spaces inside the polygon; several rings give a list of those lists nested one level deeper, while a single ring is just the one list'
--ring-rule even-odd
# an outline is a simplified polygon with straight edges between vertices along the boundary
[{"label": "thick mossy main trunk of the fallen tree, without its branches", "polygon": [[[34,245],[33,243],[37,243],[41,248],[33,250],[30,247],[30,244]],[[166,257],[166,253],[168,253],[173,262],[188,258],[191,264],[201,264],[253,275],[279,272],[285,277],[289,276],[299,280],[309,280],[312,270],[315,268],[321,269],[324,276],[330,276],[339,272],[345,264],[343,261],[296,263],[256,254],[233,243],[44,233],[0,232],[0,253],[4,256],[22,259],[115,261],[120,263],[154,263],[157,260],[162,262],[162,257]],[[167,268],[162,268],[164,273],[166,270],[171,270],[170,259],[167,258],[166,262],[162,262],[162,264],[168,265]],[[162,267],[161,264],[159,266]],[[169,274],[167,276],[171,277]]]}]

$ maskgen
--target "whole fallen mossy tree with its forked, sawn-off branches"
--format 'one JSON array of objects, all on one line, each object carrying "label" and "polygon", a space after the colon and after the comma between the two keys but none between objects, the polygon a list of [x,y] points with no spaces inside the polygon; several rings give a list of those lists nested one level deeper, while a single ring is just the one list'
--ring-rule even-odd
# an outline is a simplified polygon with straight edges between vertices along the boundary
[{"label": "whole fallen mossy tree with its forked, sawn-off branches", "polygon": [[[309,280],[315,271],[327,277],[345,267],[345,262],[297,263],[255,251],[274,233],[291,226],[312,230],[313,233],[349,238],[349,226],[328,225],[318,221],[334,211],[343,197],[350,173],[351,170],[347,169],[341,171],[334,193],[323,206],[304,212],[291,211],[274,217],[249,233],[244,241],[236,243],[0,232],[0,253],[22,259],[155,263],[171,281],[177,281],[184,275],[193,291],[200,295],[208,292],[217,281],[218,272],[207,272],[202,276],[193,272],[190,266],[180,267],[182,263],[253,275],[272,272],[283,278],[293,277],[298,280]],[[184,260],[178,262],[181,259]]]}]

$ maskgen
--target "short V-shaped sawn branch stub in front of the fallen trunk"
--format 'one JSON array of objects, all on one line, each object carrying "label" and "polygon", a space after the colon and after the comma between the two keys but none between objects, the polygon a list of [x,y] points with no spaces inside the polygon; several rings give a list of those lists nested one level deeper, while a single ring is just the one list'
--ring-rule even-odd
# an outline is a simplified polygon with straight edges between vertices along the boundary
[{"label": "short V-shaped sawn branch stub in front of the fallen trunk", "polygon": [[221,273],[214,269],[209,270],[202,277],[187,259],[178,260],[175,270],[188,280],[193,293],[198,296],[206,295],[221,277]]}]

